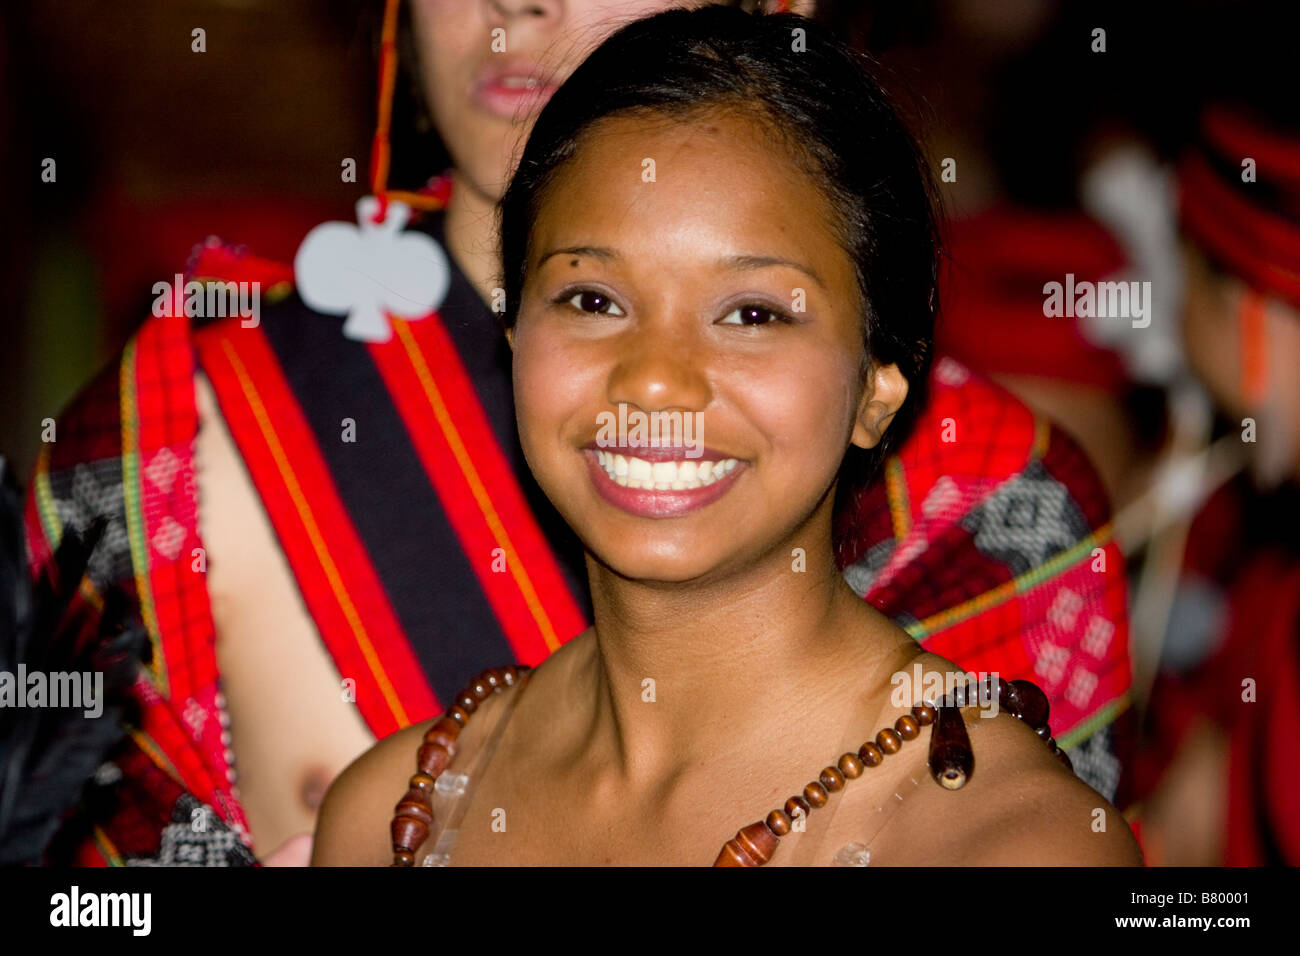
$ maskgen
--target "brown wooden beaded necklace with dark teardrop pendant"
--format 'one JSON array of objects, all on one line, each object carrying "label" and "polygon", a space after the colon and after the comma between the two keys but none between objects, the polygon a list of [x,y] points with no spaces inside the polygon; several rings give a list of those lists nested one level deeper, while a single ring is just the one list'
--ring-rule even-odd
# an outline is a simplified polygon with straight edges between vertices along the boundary
[{"label": "brown wooden beaded necklace with dark teardrop pendant", "polygon": [[[416,774],[411,778],[406,796],[394,808],[393,865],[413,866],[415,851],[429,835],[433,825],[433,792],[438,775],[447,769],[456,753],[456,737],[478,705],[493,693],[500,693],[524,679],[530,669],[523,665],[490,667],[456,695],[455,704],[438,718],[425,735],[416,753]],[[1028,680],[1002,680],[989,676],[983,692],[988,700],[996,693],[998,706],[1027,723],[1046,741],[1062,763],[1074,769],[1066,752],[1057,747],[1048,726],[1049,704],[1046,695]],[[920,736],[922,727],[930,731],[930,775],[945,790],[961,790],[975,770],[975,756],[966,734],[966,721],[961,704],[974,697],[974,691],[958,688],[954,695],[936,704],[916,704],[910,714],[885,727],[874,740],[866,741],[857,753],[845,753],[832,766],[827,766],[818,779],[796,793],[783,808],[772,810],[767,818],[742,827],[723,844],[714,866],[762,866],[776,852],[780,839],[794,829],[794,821],[807,818],[827,805],[831,793],[844,790],[870,767],[880,766],[885,757],[898,753],[904,743]]]}]

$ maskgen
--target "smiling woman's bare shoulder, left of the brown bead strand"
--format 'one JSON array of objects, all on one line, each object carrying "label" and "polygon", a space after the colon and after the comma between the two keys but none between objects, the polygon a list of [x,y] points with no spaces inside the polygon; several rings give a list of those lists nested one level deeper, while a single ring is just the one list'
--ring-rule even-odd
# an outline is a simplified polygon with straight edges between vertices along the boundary
[{"label": "smiling woman's bare shoulder, left of the brown bead strand", "polygon": [[378,741],[330,784],[316,819],[312,866],[386,866],[393,862],[393,808],[415,771],[415,754],[433,721]]}]

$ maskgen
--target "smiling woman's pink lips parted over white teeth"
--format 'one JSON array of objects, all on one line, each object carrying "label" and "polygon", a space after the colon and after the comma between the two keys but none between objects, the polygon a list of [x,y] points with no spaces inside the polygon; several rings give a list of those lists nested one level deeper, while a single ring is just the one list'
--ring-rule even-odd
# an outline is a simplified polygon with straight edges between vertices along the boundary
[{"label": "smiling woman's pink lips parted over white teeth", "polygon": [[682,447],[584,449],[597,493],[642,518],[685,515],[731,490],[745,462],[705,454],[712,457],[690,459]]}]

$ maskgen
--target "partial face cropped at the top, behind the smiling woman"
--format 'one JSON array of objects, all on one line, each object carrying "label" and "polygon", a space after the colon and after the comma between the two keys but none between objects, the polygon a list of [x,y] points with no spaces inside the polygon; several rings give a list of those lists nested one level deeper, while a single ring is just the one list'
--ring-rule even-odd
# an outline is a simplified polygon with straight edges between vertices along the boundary
[{"label": "partial face cropped at the top, behind the smiling woman", "polygon": [[499,199],[537,113],[586,55],[625,22],[690,5],[412,0],[425,99],[459,174]]}]

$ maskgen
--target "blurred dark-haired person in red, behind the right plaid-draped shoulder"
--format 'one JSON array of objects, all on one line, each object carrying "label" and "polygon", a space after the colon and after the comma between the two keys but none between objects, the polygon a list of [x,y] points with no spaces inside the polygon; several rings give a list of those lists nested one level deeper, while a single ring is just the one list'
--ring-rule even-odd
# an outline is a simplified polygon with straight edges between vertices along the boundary
[{"label": "blurred dark-haired person in red, behind the right plaid-draped shoulder", "polygon": [[[1174,196],[1160,166],[1195,92],[1178,69],[1192,33],[1169,13],[932,0],[881,7],[864,36],[935,114],[949,200],[937,347],[1070,432],[1117,511],[1150,481],[1176,351]],[[1049,315],[1045,286],[1067,274],[1150,280],[1152,328]],[[1134,342],[1147,351],[1130,354]]]}]

